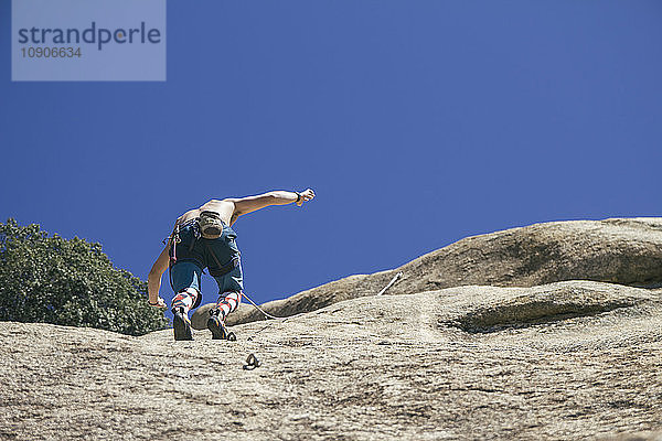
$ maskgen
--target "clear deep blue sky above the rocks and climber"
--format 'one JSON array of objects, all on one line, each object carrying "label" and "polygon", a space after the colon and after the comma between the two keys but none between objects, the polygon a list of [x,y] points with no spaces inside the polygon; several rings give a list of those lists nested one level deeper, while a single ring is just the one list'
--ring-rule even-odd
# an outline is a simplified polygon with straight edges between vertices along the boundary
[{"label": "clear deep blue sky above the rocks and climber", "polygon": [[660,215],[660,1],[170,0],[166,83],[11,83],[10,23],[0,0],[0,219],[143,279],[182,212],[273,189],[318,197],[236,223],[260,302],[469,235]]}]

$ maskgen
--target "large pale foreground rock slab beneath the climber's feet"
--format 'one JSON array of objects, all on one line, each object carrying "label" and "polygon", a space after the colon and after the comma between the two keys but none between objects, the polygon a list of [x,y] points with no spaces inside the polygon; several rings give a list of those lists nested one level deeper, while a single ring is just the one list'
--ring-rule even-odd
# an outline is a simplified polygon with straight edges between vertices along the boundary
[{"label": "large pale foreground rock slab beneath the climber's feet", "polygon": [[[233,331],[237,342],[207,331],[173,342],[171,331],[0,323],[0,438],[658,440],[662,430],[660,289],[467,286]],[[261,366],[245,370],[250,353]]]}]

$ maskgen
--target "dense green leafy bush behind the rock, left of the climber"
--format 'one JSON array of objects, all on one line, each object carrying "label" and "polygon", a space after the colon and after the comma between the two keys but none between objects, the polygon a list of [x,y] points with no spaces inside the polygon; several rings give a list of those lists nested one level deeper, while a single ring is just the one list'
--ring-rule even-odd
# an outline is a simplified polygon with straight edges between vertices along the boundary
[{"label": "dense green leafy bush behind the rock, left of the climber", "polygon": [[146,299],[147,283],[115,268],[99,244],[0,223],[0,321],[142,335],[168,326]]}]

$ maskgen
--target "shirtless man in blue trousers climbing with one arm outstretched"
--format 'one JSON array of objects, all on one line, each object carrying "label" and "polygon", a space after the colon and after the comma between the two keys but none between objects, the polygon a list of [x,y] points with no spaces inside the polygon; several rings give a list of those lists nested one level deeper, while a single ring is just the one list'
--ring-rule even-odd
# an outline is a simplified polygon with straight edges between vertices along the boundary
[{"label": "shirtless man in blue trousers climbing with one arm outstretched", "polygon": [[210,310],[207,327],[212,338],[227,338],[225,319],[242,302],[244,290],[241,252],[235,244],[237,235],[231,228],[237,217],[271,205],[296,203],[301,206],[313,197],[314,192],[308,189],[300,193],[274,191],[257,196],[212,200],[177,219],[147,279],[149,304],[167,308],[159,290],[161,277],[170,268],[170,284],[175,293],[171,305],[174,340],[193,340],[189,311],[197,308],[202,300],[200,279],[205,268],[216,280],[220,294],[216,306]]}]

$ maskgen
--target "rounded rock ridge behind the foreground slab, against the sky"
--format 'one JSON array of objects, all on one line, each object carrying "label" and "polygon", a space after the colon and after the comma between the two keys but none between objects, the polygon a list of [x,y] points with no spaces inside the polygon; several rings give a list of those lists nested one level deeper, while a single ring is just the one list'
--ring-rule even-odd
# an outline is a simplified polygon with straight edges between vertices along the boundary
[{"label": "rounded rock ridge behind the foreground slab, against the sky", "polygon": [[[563,280],[660,286],[662,218],[553,222],[468,237],[399,268],[350,276],[263,308],[288,316],[374,295],[398,272],[403,277],[388,289],[389,294],[466,284],[533,287]],[[263,320],[261,313],[243,306],[228,318],[228,324]],[[206,318],[200,329],[205,324]]]}]

